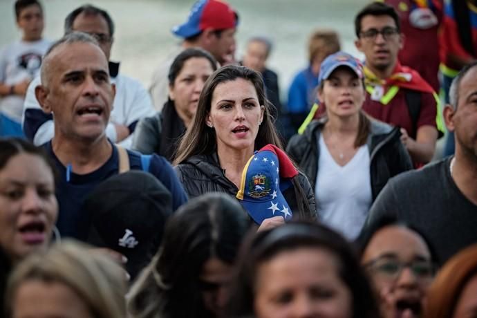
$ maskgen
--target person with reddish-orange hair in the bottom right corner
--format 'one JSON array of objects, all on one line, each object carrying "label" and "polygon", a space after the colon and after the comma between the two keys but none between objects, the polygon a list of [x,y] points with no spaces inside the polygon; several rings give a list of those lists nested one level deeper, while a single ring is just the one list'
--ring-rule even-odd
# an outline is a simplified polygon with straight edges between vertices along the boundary
[{"label": "person with reddish-orange hair in the bottom right corner", "polygon": [[476,317],[477,244],[454,255],[427,293],[424,318]]}]

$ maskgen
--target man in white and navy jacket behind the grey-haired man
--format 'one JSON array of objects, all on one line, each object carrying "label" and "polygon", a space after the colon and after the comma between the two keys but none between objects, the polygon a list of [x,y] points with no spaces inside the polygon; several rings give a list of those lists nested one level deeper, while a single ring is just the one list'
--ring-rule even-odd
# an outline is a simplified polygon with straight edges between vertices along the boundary
[{"label": "man in white and navy jacket behind the grey-haired man", "polygon": [[[114,23],[108,12],[85,5],[73,10],[65,19],[65,34],[73,31],[88,33],[95,37],[109,59],[113,45]],[[106,136],[124,148],[131,147],[132,133],[141,118],[154,115],[151,97],[140,82],[119,73],[119,63],[109,61],[109,75],[116,86],[111,118],[106,127]],[[53,116],[44,113],[35,98],[35,87],[41,79],[34,79],[26,93],[23,129],[28,139],[40,145],[53,138]]]}]

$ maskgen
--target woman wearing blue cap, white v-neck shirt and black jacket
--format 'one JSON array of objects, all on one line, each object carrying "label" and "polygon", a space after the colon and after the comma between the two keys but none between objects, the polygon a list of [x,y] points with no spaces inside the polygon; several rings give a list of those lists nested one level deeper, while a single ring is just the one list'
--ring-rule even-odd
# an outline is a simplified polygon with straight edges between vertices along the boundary
[{"label": "woman wearing blue cap, white v-neck shirt and black jacket", "polygon": [[387,180],[412,169],[399,128],[368,118],[361,63],[348,53],[328,56],[319,72],[326,116],[295,135],[287,151],[315,189],[318,218],[354,239]]}]

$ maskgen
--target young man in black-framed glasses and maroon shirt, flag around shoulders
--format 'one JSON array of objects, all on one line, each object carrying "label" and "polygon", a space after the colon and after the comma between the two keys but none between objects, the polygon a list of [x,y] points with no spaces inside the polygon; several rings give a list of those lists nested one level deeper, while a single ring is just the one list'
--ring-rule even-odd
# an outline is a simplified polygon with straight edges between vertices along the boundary
[{"label": "young man in black-framed glasses and maroon shirt, flag around shoulders", "polygon": [[430,162],[444,130],[438,96],[416,71],[397,59],[404,43],[397,13],[385,3],[371,3],[357,14],[355,32],[355,45],[366,59],[364,111],[401,127],[401,140],[415,167]]}]

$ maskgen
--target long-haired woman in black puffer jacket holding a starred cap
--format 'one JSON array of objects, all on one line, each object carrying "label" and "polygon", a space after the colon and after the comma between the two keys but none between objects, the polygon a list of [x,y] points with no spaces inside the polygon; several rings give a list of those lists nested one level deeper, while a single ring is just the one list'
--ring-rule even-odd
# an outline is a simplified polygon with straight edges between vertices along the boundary
[{"label": "long-haired woman in black puffer jacket holding a starred cap", "polygon": [[[254,151],[268,144],[282,149],[270,115],[273,106],[263,87],[261,75],[244,66],[225,66],[207,79],[194,122],[174,160],[190,197],[207,192],[236,196]],[[292,186],[283,196],[294,216],[315,219],[315,198],[306,176],[297,174],[290,181]],[[268,218],[265,223],[277,218],[283,224],[282,216]]]}]

